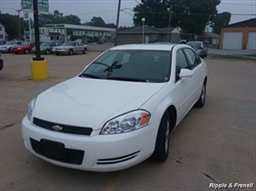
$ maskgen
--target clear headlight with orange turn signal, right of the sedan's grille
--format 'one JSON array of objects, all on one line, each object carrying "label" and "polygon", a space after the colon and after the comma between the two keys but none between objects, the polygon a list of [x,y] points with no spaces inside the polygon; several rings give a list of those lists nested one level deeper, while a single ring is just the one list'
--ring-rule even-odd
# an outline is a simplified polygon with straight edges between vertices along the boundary
[{"label": "clear headlight with orange turn signal, right of the sedan's grille", "polygon": [[134,131],[149,124],[149,118],[148,111],[131,111],[107,121],[100,134],[122,134]]}]

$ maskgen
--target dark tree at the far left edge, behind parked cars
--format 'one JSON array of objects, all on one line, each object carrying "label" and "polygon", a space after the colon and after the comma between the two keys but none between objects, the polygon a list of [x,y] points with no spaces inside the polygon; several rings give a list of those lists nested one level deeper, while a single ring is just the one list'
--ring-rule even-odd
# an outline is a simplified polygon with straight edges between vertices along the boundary
[{"label": "dark tree at the far left edge, behind parked cars", "polygon": [[9,39],[18,39],[19,38],[19,19],[21,25],[21,34],[23,34],[23,19],[19,18],[18,15],[12,14],[1,14],[0,21],[4,25],[5,31],[9,35]]}]

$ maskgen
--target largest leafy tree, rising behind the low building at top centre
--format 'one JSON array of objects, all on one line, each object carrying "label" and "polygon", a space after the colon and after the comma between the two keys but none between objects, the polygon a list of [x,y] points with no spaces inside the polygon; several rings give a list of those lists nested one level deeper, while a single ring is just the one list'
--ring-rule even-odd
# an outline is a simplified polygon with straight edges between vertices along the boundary
[{"label": "largest leafy tree, rising behind the low building at top centre", "polygon": [[172,8],[171,27],[181,27],[187,33],[203,34],[208,21],[217,14],[216,6],[221,0],[141,0],[133,11],[133,22],[141,25],[141,18],[146,18],[146,25],[168,27],[169,8]]}]

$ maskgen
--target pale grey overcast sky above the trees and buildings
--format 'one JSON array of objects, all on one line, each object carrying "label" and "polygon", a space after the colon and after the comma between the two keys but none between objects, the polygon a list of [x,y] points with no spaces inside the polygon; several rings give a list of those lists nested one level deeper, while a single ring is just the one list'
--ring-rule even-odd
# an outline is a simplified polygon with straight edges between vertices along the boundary
[{"label": "pale grey overcast sky above the trees and buildings", "polygon": [[[137,1],[140,2],[140,0]],[[138,3],[135,0],[122,0],[121,9],[124,9],[126,13],[124,11],[120,12],[120,26],[131,27],[133,25],[133,11],[131,9],[136,4]],[[49,0],[49,6],[50,12],[58,9],[64,15],[77,15],[82,23],[89,22],[92,17],[102,17],[106,23],[115,23],[118,0]],[[15,10],[20,9],[20,0],[0,0],[0,9],[2,13],[17,14]],[[255,0],[222,0],[217,9],[219,13],[229,11],[232,14],[229,24],[255,18]]]}]

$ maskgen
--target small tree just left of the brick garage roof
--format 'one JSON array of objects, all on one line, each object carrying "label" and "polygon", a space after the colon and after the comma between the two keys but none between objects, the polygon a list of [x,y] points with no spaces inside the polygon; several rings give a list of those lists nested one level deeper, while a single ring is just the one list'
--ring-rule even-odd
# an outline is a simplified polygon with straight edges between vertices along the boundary
[{"label": "small tree just left of the brick garage roof", "polygon": [[229,24],[231,19],[231,13],[229,12],[223,12],[221,14],[217,14],[216,17],[213,18],[213,24],[211,24],[211,27],[213,27],[213,32],[217,34],[221,34],[221,28],[225,27]]}]

